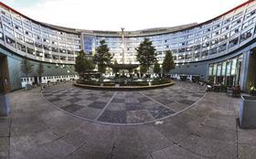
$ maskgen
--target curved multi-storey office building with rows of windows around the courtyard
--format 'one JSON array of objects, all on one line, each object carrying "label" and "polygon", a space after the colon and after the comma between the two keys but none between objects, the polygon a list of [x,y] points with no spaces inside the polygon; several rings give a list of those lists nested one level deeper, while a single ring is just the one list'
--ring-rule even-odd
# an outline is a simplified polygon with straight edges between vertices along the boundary
[{"label": "curved multi-storey office building with rows of windows around the courtyard", "polygon": [[2,3],[0,10],[0,57],[6,63],[2,69],[7,66],[9,70],[12,90],[20,88],[24,80],[19,68],[25,56],[35,68],[43,62],[47,79],[72,78],[78,51],[84,50],[91,57],[101,39],[105,39],[113,59],[137,63],[135,48],[144,37],[153,41],[160,62],[165,51],[172,50],[174,75],[200,75],[230,86],[240,84],[242,90],[247,90],[249,81],[256,81],[256,2],[252,0],[202,24],[124,31],[124,39],[121,31],[82,30],[37,22]]}]

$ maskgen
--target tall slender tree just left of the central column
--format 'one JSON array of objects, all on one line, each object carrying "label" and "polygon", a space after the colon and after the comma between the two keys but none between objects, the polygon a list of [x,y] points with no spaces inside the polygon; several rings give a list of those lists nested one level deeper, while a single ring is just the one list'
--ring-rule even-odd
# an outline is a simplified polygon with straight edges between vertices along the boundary
[{"label": "tall slender tree just left of the central column", "polygon": [[101,76],[112,60],[112,54],[109,51],[110,48],[108,48],[105,40],[101,40],[100,46],[96,49],[96,53],[93,57],[93,61],[98,65],[98,70],[101,72]]}]

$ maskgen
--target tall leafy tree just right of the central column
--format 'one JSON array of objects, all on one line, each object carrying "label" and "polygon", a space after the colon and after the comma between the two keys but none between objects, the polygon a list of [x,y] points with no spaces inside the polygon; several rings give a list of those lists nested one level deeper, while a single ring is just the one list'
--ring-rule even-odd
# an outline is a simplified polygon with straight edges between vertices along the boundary
[{"label": "tall leafy tree just right of the central column", "polygon": [[136,51],[137,60],[149,71],[150,66],[156,61],[155,47],[152,45],[149,38],[144,38],[144,41],[136,48]]}]

